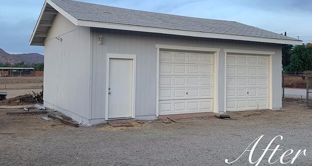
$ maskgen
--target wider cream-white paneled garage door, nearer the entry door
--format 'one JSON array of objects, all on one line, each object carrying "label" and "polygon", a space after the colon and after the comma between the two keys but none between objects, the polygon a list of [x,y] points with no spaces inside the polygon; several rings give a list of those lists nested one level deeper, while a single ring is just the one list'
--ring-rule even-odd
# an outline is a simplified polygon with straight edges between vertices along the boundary
[{"label": "wider cream-white paneled garage door, nearer the entry door", "polygon": [[159,115],[211,112],[214,56],[159,52]]}]

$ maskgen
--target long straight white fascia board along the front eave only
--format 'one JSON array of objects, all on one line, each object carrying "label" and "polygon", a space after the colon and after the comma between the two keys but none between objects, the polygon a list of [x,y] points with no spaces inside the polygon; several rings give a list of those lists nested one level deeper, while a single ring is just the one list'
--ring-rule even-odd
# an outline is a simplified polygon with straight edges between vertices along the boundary
[{"label": "long straight white fascia board along the front eave only", "polygon": [[259,37],[250,37],[250,36],[183,31],[183,30],[175,30],[175,29],[155,28],[155,27],[146,27],[146,26],[137,26],[137,25],[97,22],[97,21],[78,20],[77,25],[97,27],[97,28],[107,28],[107,29],[119,29],[119,30],[139,31],[139,32],[171,34],[171,35],[180,35],[180,36],[192,36],[192,37],[200,37],[200,38],[228,39],[228,40],[252,41],[252,42],[269,42],[269,43],[293,44],[293,45],[302,44],[302,41],[295,41],[295,40],[282,40],[282,39],[259,38]]}]

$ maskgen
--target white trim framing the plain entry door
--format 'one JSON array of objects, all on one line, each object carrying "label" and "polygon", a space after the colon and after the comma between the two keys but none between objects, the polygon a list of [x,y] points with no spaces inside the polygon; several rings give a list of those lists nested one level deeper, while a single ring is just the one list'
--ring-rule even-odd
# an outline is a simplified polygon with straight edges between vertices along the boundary
[{"label": "white trim framing the plain entry door", "polygon": [[110,59],[126,59],[133,60],[132,70],[132,117],[136,117],[136,70],[137,70],[137,55],[130,54],[106,54],[106,87],[105,87],[105,120],[108,120],[108,87],[109,87],[109,60]]}]

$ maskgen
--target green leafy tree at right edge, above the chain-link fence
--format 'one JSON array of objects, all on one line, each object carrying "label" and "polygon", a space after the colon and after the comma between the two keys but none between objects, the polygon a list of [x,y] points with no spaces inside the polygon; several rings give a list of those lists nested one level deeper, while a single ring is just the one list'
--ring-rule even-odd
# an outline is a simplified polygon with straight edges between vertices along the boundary
[{"label": "green leafy tree at right edge, above the chain-link fence", "polygon": [[296,45],[291,51],[289,71],[302,72],[312,69],[312,47],[306,44]]}]

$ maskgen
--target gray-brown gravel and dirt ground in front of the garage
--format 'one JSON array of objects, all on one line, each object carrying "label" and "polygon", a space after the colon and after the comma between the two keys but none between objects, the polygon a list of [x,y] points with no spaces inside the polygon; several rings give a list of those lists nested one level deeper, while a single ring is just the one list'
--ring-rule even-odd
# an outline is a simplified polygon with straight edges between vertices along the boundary
[{"label": "gray-brown gravel and dirt ground in front of the garage", "polygon": [[[205,165],[226,166],[256,138],[264,135],[256,161],[269,142],[280,145],[273,156],[307,149],[294,166],[312,165],[312,109],[299,101],[283,101],[283,110],[230,112],[235,120],[215,117],[181,120],[181,124],[146,121],[135,127],[72,127],[44,121],[46,115],[8,116],[0,109],[0,165]],[[247,154],[248,153],[248,154]],[[270,165],[268,152],[260,165]],[[250,165],[246,152],[233,165]],[[293,157],[293,155],[290,155]],[[287,156],[284,161],[292,157]],[[280,165],[277,162],[275,165]]]}]

